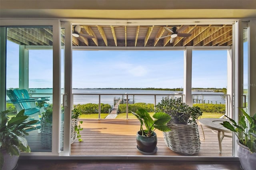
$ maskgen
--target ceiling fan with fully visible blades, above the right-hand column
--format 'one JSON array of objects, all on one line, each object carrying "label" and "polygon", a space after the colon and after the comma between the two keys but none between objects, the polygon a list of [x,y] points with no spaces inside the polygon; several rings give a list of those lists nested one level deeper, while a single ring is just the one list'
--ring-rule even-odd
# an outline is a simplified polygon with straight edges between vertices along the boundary
[{"label": "ceiling fan with fully visible blades, above the right-hand column", "polygon": [[[189,34],[189,33],[182,33],[182,31],[186,30],[186,28],[188,28],[188,26],[181,26],[178,30],[177,30],[177,27],[172,27],[171,29],[169,29],[167,27],[163,27],[163,28],[164,28],[164,30],[170,32],[171,35],[160,37],[160,38],[166,38],[166,37],[171,36],[170,43],[173,43],[177,36],[179,36],[179,37],[189,37],[189,36],[192,35],[192,34]],[[160,39],[160,38],[157,38],[157,39]]]}]

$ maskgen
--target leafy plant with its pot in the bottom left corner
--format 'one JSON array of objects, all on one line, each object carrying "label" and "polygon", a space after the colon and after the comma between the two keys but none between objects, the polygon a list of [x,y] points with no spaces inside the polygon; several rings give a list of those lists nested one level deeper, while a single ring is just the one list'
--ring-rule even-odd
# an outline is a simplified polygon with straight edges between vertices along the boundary
[{"label": "leafy plant with its pot in the bottom left corner", "polygon": [[20,152],[30,152],[25,136],[27,130],[37,129],[32,125],[38,120],[27,121],[24,110],[12,118],[7,117],[9,111],[0,115],[0,169],[12,170],[16,167]]}]

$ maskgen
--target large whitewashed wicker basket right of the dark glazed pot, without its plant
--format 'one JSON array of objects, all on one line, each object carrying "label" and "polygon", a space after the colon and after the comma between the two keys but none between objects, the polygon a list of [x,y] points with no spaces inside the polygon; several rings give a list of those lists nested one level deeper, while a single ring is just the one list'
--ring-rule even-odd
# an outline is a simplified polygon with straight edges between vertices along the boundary
[{"label": "large whitewashed wicker basket right of the dark glazed pot, without its plant", "polygon": [[163,132],[164,142],[181,154],[191,155],[200,151],[200,136],[198,125],[168,124],[169,132]]}]

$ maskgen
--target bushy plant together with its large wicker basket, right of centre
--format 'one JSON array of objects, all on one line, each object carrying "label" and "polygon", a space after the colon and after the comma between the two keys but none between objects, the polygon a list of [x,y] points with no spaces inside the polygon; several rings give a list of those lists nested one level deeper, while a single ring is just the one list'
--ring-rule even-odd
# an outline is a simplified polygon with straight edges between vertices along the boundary
[{"label": "bushy plant together with its large wicker basket, right of centre", "polygon": [[163,99],[156,105],[156,111],[162,111],[172,117],[167,126],[172,129],[163,132],[164,142],[173,151],[192,155],[200,151],[201,143],[196,120],[202,115],[199,107],[190,107],[178,99]]}]

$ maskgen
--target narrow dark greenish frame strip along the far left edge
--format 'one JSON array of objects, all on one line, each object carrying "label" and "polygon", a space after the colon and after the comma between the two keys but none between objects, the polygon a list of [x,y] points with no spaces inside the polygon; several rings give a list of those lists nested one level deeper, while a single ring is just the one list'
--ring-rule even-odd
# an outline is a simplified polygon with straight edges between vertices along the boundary
[{"label": "narrow dark greenish frame strip along the far left edge", "polygon": [[0,111],[6,109],[6,27],[0,27]]}]

